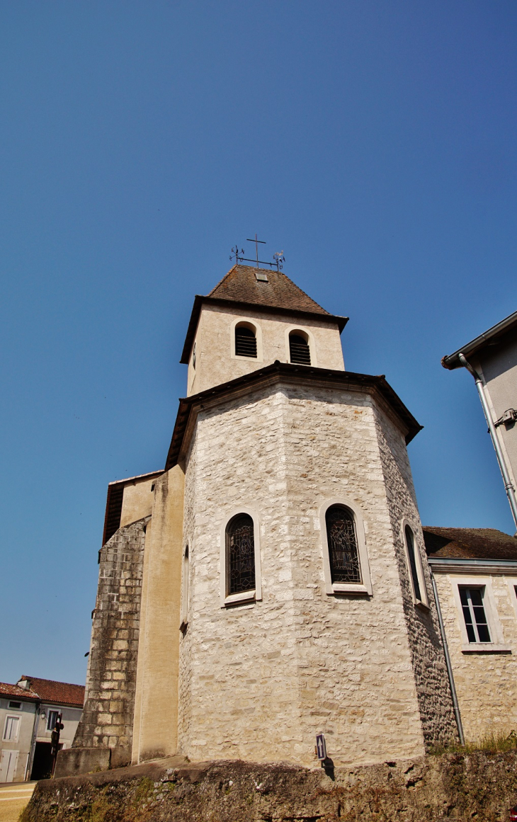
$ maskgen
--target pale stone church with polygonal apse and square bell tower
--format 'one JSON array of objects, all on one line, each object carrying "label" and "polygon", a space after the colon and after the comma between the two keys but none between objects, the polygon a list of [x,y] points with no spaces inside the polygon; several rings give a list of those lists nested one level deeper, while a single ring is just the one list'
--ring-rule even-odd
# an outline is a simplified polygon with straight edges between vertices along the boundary
[{"label": "pale stone church with polygonal apse and square bell tower", "polygon": [[165,469],[118,483],[126,521],[107,511],[101,578],[128,529],[141,569],[123,740],[97,707],[103,596],[76,746],[311,765],[325,732],[338,765],[455,737],[406,449],[420,426],[383,376],[345,371],[346,321],[276,270],[234,266],[196,297]]}]

